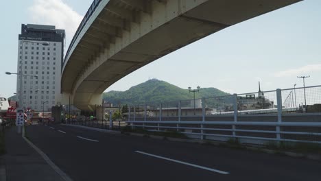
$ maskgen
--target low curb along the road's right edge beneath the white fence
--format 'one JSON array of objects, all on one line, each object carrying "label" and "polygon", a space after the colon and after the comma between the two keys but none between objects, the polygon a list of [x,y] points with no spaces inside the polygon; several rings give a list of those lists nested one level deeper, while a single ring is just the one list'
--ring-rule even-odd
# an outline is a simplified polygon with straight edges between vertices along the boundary
[{"label": "low curb along the road's right edge beneath the white fence", "polygon": [[[185,143],[198,143],[198,144],[207,143],[215,146],[219,146],[221,143],[225,143],[225,142],[216,142],[216,141],[202,141],[202,140],[195,140],[195,139],[170,138],[166,136],[154,136],[149,134],[140,134],[140,133],[132,133],[132,132],[122,132],[122,133],[131,135],[131,136],[149,137],[149,138],[156,138],[161,140],[166,139],[168,141],[177,141],[177,142],[185,142]],[[260,147],[249,147],[249,146],[244,146],[244,148],[252,151],[264,152],[265,154],[283,154],[285,156],[290,156],[293,158],[307,158],[309,160],[321,161],[321,154],[300,154],[296,152],[286,152],[286,151],[279,151],[274,149],[265,149]]]}]

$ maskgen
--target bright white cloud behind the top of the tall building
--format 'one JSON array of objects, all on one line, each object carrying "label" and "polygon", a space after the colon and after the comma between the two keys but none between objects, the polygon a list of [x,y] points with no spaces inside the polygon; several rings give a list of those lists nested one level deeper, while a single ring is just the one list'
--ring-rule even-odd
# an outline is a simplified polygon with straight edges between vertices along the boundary
[{"label": "bright white cloud behind the top of the tall building", "polygon": [[58,29],[65,29],[66,46],[69,45],[83,18],[62,0],[34,0],[28,12],[34,24],[56,25]]}]

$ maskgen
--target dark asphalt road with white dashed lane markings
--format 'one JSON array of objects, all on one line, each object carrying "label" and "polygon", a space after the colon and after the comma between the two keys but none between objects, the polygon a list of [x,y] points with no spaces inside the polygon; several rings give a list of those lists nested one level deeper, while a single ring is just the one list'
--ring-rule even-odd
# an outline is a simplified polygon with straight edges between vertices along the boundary
[{"label": "dark asphalt road with white dashed lane markings", "polygon": [[66,125],[31,125],[26,136],[73,180],[321,179],[321,162],[304,158]]}]

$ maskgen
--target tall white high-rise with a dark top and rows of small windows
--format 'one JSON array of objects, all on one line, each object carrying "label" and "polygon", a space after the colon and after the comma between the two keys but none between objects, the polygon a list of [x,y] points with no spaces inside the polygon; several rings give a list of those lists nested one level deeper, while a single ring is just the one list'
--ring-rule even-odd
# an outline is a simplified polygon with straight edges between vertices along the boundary
[{"label": "tall white high-rise with a dark top and rows of small windows", "polygon": [[22,82],[18,75],[16,85],[20,108],[50,111],[60,101],[64,37],[64,29],[55,26],[21,25],[17,72]]}]

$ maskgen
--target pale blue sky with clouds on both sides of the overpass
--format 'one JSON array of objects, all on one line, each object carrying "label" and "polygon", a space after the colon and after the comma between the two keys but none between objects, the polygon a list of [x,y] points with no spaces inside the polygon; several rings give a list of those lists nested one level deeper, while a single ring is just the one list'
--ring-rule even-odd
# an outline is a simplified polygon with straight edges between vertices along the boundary
[{"label": "pale blue sky with clouds on both sides of the overpass", "polygon": [[[81,3],[80,3],[81,2]],[[5,1],[0,15],[0,95],[16,92],[21,24],[66,29],[67,47],[92,0]],[[305,0],[233,25],[130,73],[107,90],[128,90],[152,78],[180,88],[215,87],[227,93],[252,93],[321,85],[321,1]],[[65,47],[67,49],[67,47]]]}]

